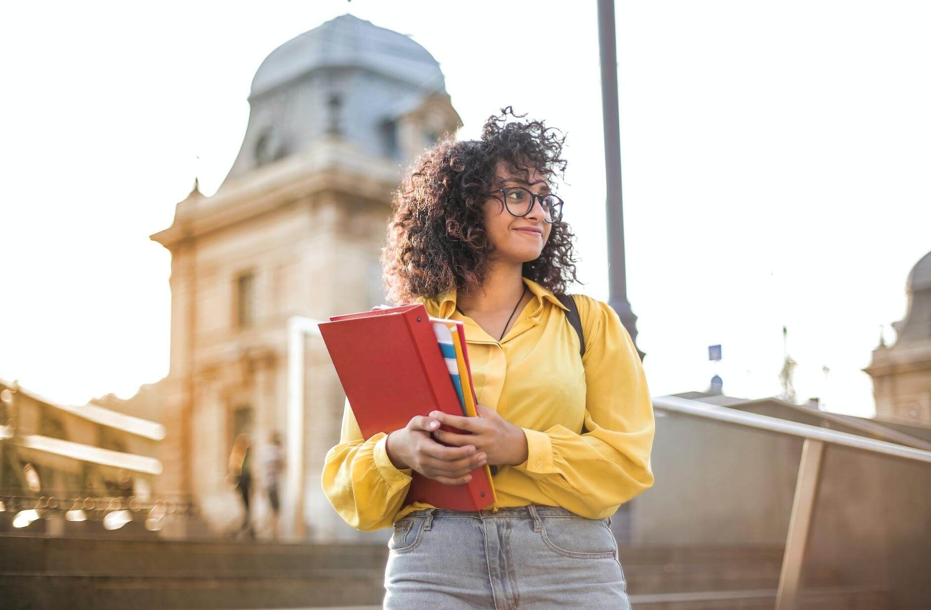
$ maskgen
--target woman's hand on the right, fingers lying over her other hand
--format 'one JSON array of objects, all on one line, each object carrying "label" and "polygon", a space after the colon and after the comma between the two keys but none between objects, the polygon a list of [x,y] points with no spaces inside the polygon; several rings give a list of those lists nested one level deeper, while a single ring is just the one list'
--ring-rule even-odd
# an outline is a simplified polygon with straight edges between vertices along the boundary
[{"label": "woman's hand on the right, fingers lying over her other hand", "polygon": [[527,436],[524,431],[486,406],[479,404],[476,411],[479,413],[478,417],[431,411],[430,417],[439,419],[440,424],[472,433],[455,434],[445,430],[434,430],[433,437],[455,447],[473,445],[476,453],[481,452],[488,456],[489,466],[517,466],[526,462]]}]

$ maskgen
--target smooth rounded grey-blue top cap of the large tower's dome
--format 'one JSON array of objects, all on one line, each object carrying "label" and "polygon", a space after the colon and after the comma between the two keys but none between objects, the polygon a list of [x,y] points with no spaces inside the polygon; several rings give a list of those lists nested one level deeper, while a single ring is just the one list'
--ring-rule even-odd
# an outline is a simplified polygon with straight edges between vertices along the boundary
[{"label": "smooth rounded grey-blue top cap of the large tower's dome", "polygon": [[305,32],[277,47],[252,78],[250,98],[321,67],[362,67],[416,88],[445,90],[439,63],[404,34],[352,15]]}]

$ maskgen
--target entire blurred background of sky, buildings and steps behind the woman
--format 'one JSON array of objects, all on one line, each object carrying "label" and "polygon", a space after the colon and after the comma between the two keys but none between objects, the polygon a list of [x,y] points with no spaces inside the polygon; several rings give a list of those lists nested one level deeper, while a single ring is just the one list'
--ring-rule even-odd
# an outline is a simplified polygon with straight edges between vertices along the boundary
[{"label": "entire blurred background of sky, buildings and steps behind the woman", "polygon": [[572,291],[636,314],[635,607],[931,607],[931,6],[614,3],[621,232],[610,4],[7,7],[0,592],[380,603],[389,533],[320,490],[344,395],[315,320],[386,303],[404,169],[511,105],[567,135]]}]

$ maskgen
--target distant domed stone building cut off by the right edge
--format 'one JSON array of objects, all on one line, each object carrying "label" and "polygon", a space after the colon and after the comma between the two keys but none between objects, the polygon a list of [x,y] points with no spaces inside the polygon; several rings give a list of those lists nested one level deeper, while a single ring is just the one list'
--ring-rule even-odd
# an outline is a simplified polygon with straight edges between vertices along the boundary
[{"label": "distant domed stone building cut off by the right edge", "polygon": [[931,252],[911,269],[905,319],[893,322],[895,345],[873,350],[870,366],[876,414],[931,426]]}]

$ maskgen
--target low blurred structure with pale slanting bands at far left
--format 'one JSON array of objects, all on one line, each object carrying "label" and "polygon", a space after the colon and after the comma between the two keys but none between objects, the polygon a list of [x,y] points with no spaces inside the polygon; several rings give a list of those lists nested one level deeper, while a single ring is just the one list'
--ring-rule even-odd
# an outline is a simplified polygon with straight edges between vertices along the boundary
[{"label": "low blurred structure with pale slanting bands at far left", "polygon": [[[62,534],[86,527],[62,516],[75,502],[88,508],[88,520],[102,516],[102,510],[90,510],[95,503],[85,505],[88,498],[148,502],[162,470],[155,455],[164,438],[165,428],[156,422],[94,402],[61,404],[0,379],[0,532]],[[22,508],[40,506],[47,519],[14,520]],[[145,516],[134,519],[142,527]]]}]

